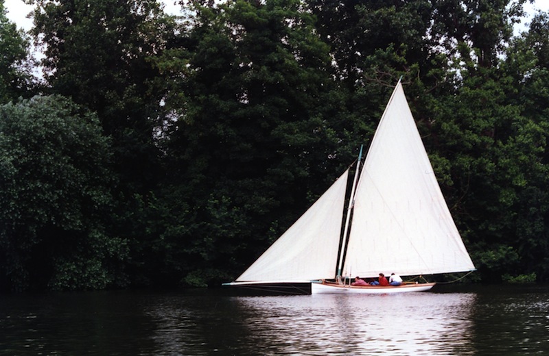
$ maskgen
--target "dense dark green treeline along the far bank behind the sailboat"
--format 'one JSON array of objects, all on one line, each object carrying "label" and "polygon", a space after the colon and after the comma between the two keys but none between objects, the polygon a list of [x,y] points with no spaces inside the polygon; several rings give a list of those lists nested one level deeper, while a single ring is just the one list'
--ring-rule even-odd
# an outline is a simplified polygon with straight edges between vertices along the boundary
[{"label": "dense dark green treeline along the far bank behind the sailboat", "polygon": [[1,291],[233,280],[399,77],[470,279],[549,279],[549,16],[513,36],[524,0],[27,2],[28,35],[0,0]]}]

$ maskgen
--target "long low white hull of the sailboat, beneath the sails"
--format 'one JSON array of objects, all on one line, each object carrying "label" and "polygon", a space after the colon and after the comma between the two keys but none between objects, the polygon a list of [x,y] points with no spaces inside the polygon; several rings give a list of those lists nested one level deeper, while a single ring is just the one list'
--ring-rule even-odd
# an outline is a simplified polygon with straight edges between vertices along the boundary
[{"label": "long low white hull of the sailboat, beneath the sails", "polygon": [[425,292],[436,283],[403,284],[380,287],[379,285],[339,285],[336,283],[311,283],[311,294],[389,294],[405,292]]}]

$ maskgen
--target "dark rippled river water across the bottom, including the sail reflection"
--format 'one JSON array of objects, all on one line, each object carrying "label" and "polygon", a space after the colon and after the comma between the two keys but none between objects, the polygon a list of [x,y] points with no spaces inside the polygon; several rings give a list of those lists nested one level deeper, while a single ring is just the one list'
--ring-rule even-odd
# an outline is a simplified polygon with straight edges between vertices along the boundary
[{"label": "dark rippled river water across the bottom, including the sail reflection", "polygon": [[0,296],[0,355],[543,355],[549,285]]}]

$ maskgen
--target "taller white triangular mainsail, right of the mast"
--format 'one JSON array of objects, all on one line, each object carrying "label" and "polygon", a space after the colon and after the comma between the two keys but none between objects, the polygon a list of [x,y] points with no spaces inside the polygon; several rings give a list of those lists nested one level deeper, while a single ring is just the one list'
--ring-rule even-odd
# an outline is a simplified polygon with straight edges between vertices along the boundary
[{"label": "taller white triangular mainsail, right of the mast", "polygon": [[474,270],[400,82],[366,155],[344,266],[364,277]]}]

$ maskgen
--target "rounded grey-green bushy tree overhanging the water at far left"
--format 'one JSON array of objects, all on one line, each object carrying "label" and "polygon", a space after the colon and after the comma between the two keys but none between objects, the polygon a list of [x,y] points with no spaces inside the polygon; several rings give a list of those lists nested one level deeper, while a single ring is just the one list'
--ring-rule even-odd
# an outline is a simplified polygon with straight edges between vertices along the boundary
[{"label": "rounded grey-green bushy tree overhanging the water at far left", "polygon": [[124,283],[111,159],[97,116],[68,99],[0,106],[0,290]]}]

